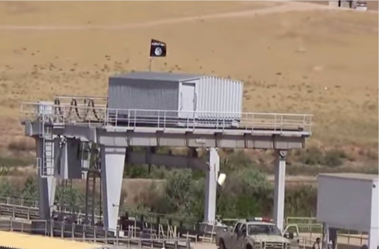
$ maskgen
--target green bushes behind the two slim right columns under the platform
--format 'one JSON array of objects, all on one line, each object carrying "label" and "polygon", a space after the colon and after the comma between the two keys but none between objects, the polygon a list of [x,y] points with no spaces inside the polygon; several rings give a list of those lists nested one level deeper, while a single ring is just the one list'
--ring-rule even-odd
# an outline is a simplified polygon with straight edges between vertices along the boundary
[{"label": "green bushes behind the two slim right columns under the platform", "polygon": [[[146,167],[147,170],[146,165],[139,167]],[[220,167],[221,172],[227,174],[227,180],[224,186],[218,186],[218,215],[227,218],[272,215],[273,186],[251,159],[243,152],[231,153],[228,159],[221,160]],[[155,169],[157,167],[152,166],[150,172]],[[159,170],[165,171],[167,179],[164,195],[152,193],[149,198],[144,198],[146,201],[141,207],[149,212],[169,213],[201,221],[204,212],[204,176],[188,169],[167,170],[162,167]],[[315,214],[315,208],[316,189],[301,186],[286,190],[286,215],[311,216]]]}]

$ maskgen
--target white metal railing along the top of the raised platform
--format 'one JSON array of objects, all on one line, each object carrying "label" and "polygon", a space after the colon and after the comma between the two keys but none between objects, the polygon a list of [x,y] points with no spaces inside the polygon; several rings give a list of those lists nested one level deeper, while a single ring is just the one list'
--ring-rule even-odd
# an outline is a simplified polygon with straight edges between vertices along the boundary
[{"label": "white metal railing along the top of the raised platform", "polygon": [[[93,102],[92,102],[93,103]],[[286,113],[227,113],[207,111],[110,109],[105,105],[80,103],[46,104],[23,102],[23,121],[49,121],[56,124],[111,125],[156,128],[227,128],[243,130],[302,131],[311,133],[312,115]]]}]

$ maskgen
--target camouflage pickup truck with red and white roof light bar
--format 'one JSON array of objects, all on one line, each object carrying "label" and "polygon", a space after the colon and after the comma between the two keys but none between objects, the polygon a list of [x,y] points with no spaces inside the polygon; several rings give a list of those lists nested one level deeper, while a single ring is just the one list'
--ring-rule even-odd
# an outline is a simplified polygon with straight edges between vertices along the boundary
[{"label": "camouflage pickup truck with red and white roof light bar", "polygon": [[[290,227],[296,229],[288,232]],[[239,220],[234,227],[226,227],[216,233],[216,246],[219,249],[290,249],[299,248],[299,228],[287,226],[282,233],[278,227],[262,218]]]}]

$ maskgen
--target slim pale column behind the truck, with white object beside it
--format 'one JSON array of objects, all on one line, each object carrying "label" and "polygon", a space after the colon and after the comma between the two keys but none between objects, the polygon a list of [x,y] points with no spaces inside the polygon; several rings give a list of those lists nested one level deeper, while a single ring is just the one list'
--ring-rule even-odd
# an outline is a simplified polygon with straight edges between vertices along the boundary
[{"label": "slim pale column behind the truck, with white object beside it", "polygon": [[208,170],[205,171],[205,202],[204,223],[213,224],[216,221],[216,189],[220,169],[220,157],[216,148],[207,151]]}]

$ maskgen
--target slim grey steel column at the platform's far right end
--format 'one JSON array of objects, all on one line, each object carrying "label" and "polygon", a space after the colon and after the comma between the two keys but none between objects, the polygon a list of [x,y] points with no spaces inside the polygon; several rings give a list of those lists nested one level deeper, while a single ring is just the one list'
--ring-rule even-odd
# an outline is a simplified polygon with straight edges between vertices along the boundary
[{"label": "slim grey steel column at the platform's far right end", "polygon": [[274,221],[277,227],[283,231],[284,222],[284,189],[285,189],[285,160],[286,150],[277,151],[277,163],[275,167],[274,186]]}]

